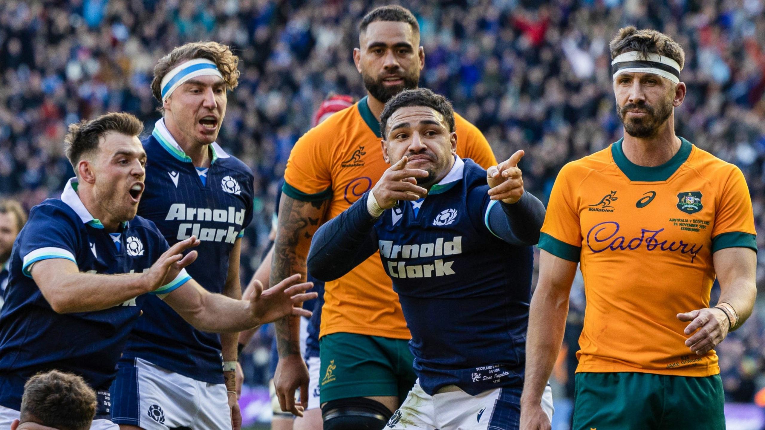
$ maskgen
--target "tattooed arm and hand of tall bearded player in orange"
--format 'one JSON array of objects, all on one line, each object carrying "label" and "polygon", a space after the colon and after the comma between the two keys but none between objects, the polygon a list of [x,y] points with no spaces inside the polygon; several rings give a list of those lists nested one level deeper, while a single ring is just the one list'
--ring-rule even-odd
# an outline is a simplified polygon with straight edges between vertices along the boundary
[{"label": "tattooed arm and hand of tall bearded player in orange", "polygon": [[[306,259],[311,239],[324,218],[329,200],[301,201],[282,194],[278,226],[271,262],[271,285],[299,273],[305,279]],[[276,321],[279,363],[274,386],[283,411],[302,416],[308,406],[308,368],[300,351],[300,317]],[[295,405],[295,389],[300,387],[301,402]]]}]

